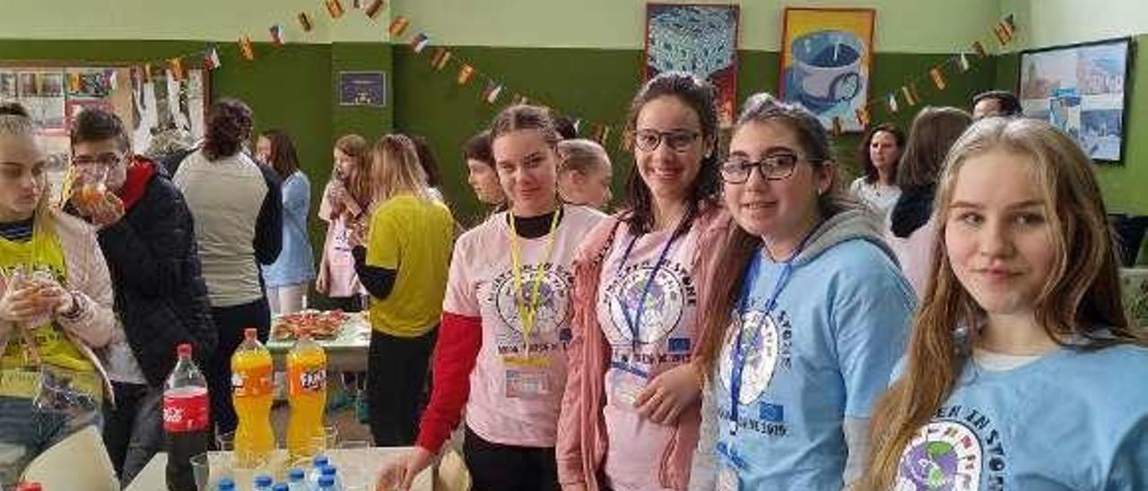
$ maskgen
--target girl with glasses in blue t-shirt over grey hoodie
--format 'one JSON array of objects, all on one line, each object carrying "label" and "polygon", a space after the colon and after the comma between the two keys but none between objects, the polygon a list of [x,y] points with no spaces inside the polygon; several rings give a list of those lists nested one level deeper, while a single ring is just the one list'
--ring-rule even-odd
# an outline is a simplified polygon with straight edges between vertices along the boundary
[{"label": "girl with glasses in blue t-shirt over grey hoodie", "polygon": [[809,111],[751,96],[721,167],[737,224],[706,294],[691,489],[840,490],[916,303],[877,220],[843,198]]}]

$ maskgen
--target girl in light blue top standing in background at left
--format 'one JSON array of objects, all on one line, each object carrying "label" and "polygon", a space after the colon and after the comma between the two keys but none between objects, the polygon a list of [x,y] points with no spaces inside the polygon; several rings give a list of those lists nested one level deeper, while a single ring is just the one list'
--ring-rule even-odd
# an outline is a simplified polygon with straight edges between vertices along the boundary
[{"label": "girl in light blue top standing in background at left", "polygon": [[256,142],[258,161],[282,180],[284,244],[276,259],[263,268],[271,314],[307,309],[308,286],[315,280],[315,256],[311,251],[307,217],[311,210],[311,181],[298,167],[298,156],[290,135],[282,130],[267,130]]}]

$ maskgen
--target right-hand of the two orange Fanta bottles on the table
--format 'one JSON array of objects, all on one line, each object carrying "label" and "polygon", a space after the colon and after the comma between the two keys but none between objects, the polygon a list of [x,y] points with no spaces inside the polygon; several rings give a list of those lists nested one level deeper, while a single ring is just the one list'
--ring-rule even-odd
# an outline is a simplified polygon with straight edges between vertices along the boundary
[{"label": "right-hand of the two orange Fanta bottles on the table", "polygon": [[323,450],[323,411],[327,404],[327,354],[308,335],[300,336],[287,353],[287,452],[292,460]]}]

